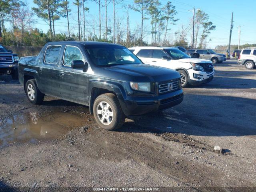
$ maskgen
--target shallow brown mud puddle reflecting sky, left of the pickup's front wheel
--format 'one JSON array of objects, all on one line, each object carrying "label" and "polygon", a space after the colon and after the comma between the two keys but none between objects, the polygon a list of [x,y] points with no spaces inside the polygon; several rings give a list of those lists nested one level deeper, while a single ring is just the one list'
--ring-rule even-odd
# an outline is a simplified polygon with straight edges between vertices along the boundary
[{"label": "shallow brown mud puddle reflecting sky, left of the pickup's front wheel", "polygon": [[0,147],[15,143],[36,143],[56,139],[85,124],[85,116],[76,112],[27,112],[11,116],[0,126]]}]

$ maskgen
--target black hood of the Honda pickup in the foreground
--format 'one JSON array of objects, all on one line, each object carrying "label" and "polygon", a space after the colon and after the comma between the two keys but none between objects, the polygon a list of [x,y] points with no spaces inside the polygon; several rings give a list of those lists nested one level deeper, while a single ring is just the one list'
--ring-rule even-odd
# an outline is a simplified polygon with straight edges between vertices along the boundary
[{"label": "black hood of the Honda pickup in the foreground", "polygon": [[180,78],[175,70],[148,64],[124,64],[102,68],[106,78],[134,82],[162,82]]}]

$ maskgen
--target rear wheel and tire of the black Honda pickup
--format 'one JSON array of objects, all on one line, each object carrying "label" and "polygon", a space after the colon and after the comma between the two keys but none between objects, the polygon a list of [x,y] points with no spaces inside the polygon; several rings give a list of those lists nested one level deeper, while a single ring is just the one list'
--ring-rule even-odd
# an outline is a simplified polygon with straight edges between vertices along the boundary
[{"label": "rear wheel and tire of the black Honda pickup", "polygon": [[44,94],[40,92],[34,79],[30,79],[26,82],[25,90],[27,98],[31,103],[41,104],[43,102]]}]

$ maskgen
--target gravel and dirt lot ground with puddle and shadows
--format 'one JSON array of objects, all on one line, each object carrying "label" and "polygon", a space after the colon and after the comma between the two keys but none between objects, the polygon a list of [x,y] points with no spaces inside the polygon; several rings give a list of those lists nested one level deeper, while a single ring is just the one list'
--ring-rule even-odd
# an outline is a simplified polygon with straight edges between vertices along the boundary
[{"label": "gravel and dirt lot ground with puddle and shadows", "polygon": [[256,70],[234,60],[215,70],[209,84],[184,88],[178,106],[115,132],[86,106],[48,96],[32,105],[18,81],[0,76],[0,188],[255,191]]}]

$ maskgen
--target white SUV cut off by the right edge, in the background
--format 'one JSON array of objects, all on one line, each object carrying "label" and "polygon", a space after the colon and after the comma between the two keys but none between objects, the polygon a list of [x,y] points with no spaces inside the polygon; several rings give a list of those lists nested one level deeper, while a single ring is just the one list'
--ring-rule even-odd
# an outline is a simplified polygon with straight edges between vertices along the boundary
[{"label": "white SUV cut off by the right edge, in the background", "polygon": [[243,49],[237,63],[244,65],[246,69],[254,68],[256,64],[256,48]]}]

